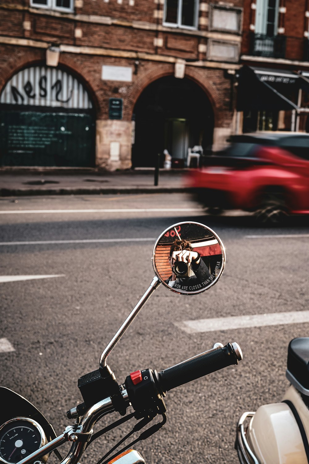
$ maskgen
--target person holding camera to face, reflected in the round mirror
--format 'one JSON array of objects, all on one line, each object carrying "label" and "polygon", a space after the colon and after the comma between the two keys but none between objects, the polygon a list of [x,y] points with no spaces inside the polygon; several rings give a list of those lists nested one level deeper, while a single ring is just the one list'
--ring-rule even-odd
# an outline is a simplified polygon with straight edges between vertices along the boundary
[{"label": "person holding camera to face, reflected in the round mirror", "polygon": [[172,275],[165,280],[169,287],[195,291],[213,280],[200,253],[194,251],[188,240],[175,240],[170,247],[169,263]]}]

